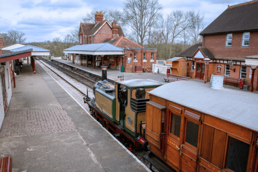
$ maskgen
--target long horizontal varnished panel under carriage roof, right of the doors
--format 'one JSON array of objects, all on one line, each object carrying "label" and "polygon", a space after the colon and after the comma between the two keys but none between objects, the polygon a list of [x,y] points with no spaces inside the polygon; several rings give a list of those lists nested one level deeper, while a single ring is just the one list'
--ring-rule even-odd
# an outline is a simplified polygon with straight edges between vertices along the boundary
[{"label": "long horizontal varnished panel under carriage roof, right of the doors", "polygon": [[248,130],[246,128],[240,127],[238,125],[232,124],[230,122],[224,121],[222,119],[205,115],[204,116],[204,123],[211,125],[215,128],[221,129],[227,133],[231,133],[233,135],[236,135],[240,138],[243,138],[249,142],[252,140],[252,131]]}]

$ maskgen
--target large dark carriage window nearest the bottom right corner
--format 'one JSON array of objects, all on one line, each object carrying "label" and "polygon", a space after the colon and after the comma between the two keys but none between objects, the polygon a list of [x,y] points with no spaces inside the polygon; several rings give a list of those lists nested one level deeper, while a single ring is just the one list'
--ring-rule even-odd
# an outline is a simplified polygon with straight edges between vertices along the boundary
[{"label": "large dark carriage window nearest the bottom right corner", "polygon": [[249,144],[229,137],[227,168],[234,172],[245,172],[248,162]]}]

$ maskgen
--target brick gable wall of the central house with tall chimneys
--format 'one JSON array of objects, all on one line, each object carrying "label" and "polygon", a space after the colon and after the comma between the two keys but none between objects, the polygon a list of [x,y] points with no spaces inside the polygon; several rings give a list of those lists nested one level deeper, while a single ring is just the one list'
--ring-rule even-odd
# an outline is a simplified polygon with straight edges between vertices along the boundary
[{"label": "brick gable wall of the central house with tall chimneys", "polygon": [[106,23],[94,36],[93,42],[91,43],[101,43],[105,41],[106,39],[111,38],[112,35],[112,29],[110,26]]}]

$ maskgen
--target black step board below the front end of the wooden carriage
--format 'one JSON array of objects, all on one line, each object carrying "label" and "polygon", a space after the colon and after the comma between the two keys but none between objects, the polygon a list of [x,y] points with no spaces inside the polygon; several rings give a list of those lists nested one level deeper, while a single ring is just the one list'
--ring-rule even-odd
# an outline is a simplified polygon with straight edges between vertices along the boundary
[{"label": "black step board below the front end of the wooden carriage", "polygon": [[150,163],[150,171],[152,170],[152,166],[155,167],[159,172],[176,172],[171,167],[164,164],[158,157],[156,157],[153,153],[149,153],[149,155],[144,155],[143,158]]}]

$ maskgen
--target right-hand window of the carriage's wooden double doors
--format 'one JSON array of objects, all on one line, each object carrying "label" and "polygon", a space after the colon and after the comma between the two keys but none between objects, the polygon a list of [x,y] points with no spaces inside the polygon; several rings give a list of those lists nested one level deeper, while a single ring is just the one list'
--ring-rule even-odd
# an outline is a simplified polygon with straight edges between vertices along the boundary
[{"label": "right-hand window of the carriage's wooden double doors", "polygon": [[199,136],[199,125],[192,121],[187,120],[185,142],[197,147],[198,136]]}]

